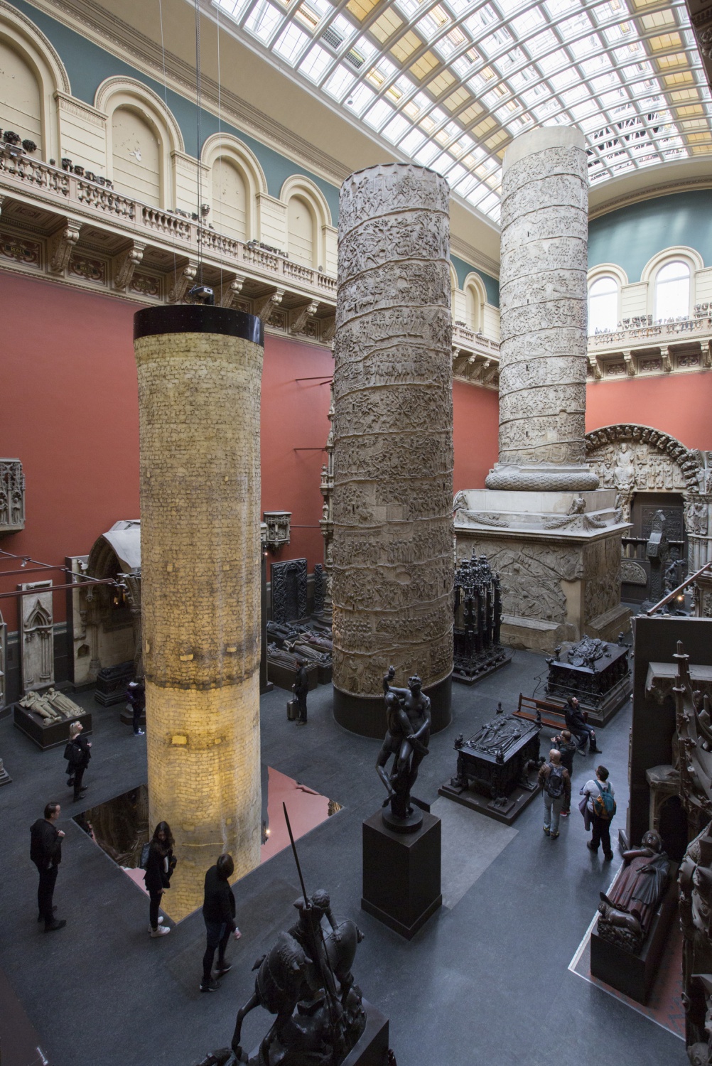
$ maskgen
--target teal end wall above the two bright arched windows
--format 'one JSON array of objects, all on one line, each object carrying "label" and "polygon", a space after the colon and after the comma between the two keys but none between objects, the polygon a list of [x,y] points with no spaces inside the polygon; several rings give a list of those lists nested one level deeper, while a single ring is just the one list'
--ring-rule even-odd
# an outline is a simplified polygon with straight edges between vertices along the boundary
[{"label": "teal end wall above the two bright arched windows", "polygon": [[712,190],[657,196],[603,214],[588,226],[588,269],[615,263],[640,281],[658,252],[684,244],[712,264]]}]

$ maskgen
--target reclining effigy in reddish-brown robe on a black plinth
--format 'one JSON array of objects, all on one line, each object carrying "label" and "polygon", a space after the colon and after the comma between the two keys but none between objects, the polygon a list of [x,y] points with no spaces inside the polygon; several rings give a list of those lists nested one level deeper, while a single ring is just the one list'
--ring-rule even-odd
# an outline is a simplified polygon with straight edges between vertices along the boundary
[{"label": "reclining effigy in reddish-brown robe on a black plinth", "polygon": [[598,933],[628,951],[638,952],[656,908],[667,888],[670,860],[658,833],[644,834],[640,847],[624,852],[626,866],[609,895],[601,892]]}]

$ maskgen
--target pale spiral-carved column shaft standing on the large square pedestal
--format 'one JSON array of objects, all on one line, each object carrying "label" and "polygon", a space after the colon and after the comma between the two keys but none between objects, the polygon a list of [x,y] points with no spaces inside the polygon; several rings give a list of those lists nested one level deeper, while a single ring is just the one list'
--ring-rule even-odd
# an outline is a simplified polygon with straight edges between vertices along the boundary
[{"label": "pale spiral-carved column shaft standing on the large square pedestal", "polygon": [[[583,445],[583,139],[580,145],[568,140],[546,146],[532,138],[529,152],[512,158],[508,163],[505,157],[502,175],[499,463],[486,484],[499,489],[592,489],[597,479],[584,465]],[[550,391],[552,386],[556,388]],[[528,469],[550,464],[568,469]]]}]

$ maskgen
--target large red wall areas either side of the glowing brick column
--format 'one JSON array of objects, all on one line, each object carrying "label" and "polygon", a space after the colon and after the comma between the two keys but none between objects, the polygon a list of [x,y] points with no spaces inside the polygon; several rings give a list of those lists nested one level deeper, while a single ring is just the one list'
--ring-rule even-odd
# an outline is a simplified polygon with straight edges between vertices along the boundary
[{"label": "large red wall areas either side of the glowing brick column", "polygon": [[[133,359],[135,304],[98,293],[0,273],[5,343],[2,353],[0,455],[22,461],[26,528],[0,548],[46,563],[83,555],[119,518],[140,517],[139,408]],[[292,512],[295,524],[317,526],[328,385],[296,377],[333,374],[326,349],[269,336],[262,378],[262,508]],[[239,417],[239,413],[236,413]],[[295,529],[273,556],[323,556],[319,528]],[[0,556],[1,558],[1,556]],[[17,566],[3,561],[0,571]],[[48,571],[55,584],[59,571]],[[0,578],[0,592],[43,575]],[[0,600],[11,631],[16,600]],[[54,620],[65,617],[63,593]]]}]

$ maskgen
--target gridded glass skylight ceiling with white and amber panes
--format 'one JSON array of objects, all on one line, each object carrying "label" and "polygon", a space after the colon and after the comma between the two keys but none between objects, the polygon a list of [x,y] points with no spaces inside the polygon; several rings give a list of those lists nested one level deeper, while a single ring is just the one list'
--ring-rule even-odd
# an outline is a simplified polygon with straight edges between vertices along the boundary
[{"label": "gridded glass skylight ceiling with white and amber panes", "polygon": [[712,157],[684,0],[211,0],[222,25],[499,221],[501,160],[536,125],[585,133],[593,185]]}]

